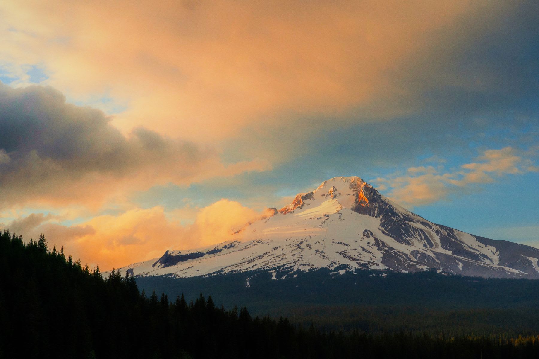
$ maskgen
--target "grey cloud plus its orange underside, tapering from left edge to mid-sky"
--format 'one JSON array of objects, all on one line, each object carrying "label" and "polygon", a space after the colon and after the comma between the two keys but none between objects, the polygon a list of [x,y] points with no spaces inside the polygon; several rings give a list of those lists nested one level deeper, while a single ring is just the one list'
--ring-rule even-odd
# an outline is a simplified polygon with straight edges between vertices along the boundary
[{"label": "grey cloud plus its orange underside, tapering from left edge to mid-sky", "polygon": [[209,146],[143,127],[123,135],[111,118],[65,102],[57,90],[0,85],[0,206],[99,207],[157,184],[271,168],[266,160],[223,164]]}]

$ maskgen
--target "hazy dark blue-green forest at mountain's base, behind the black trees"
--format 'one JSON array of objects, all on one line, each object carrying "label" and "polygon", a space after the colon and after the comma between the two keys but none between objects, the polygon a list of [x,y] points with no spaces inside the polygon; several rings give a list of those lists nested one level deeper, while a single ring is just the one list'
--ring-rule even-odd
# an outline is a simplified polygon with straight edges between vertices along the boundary
[{"label": "hazy dark blue-green forest at mountain's base, behind the black trees", "polygon": [[[373,334],[514,337],[539,333],[539,280],[446,276],[358,269],[226,273],[210,277],[135,277],[139,288],[196,299],[211,293],[226,307],[287,316],[295,323]],[[248,286],[246,285],[248,279]]]}]

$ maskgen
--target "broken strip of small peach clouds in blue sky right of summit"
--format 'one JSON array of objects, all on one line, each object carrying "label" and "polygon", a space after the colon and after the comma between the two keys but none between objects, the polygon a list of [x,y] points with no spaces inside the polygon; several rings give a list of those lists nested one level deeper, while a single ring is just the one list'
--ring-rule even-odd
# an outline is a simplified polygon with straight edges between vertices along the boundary
[{"label": "broken strip of small peach clouds in blue sky right of summit", "polygon": [[510,146],[486,150],[476,160],[478,162],[461,165],[455,171],[448,171],[444,166],[410,167],[405,175],[393,174],[377,178],[375,182],[389,191],[388,196],[396,202],[420,206],[447,199],[472,185],[494,182],[507,174],[531,172],[530,167],[535,167],[529,158],[519,156],[519,151]]}]

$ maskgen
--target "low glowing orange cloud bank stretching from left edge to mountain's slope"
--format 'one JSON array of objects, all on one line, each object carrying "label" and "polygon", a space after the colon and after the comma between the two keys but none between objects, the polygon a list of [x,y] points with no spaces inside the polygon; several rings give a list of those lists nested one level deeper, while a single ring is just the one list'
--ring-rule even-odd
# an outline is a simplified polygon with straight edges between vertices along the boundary
[{"label": "low glowing orange cloud bank stretching from left edge to mountain's slope", "polygon": [[[204,208],[189,208],[194,223],[182,224],[182,210],[133,208],[118,215],[95,216],[68,226],[58,215],[32,213],[4,228],[26,241],[45,234],[52,246],[92,266],[112,269],[160,257],[165,250],[190,249],[230,240],[234,231],[265,215],[240,203],[222,199]],[[0,223],[1,224],[1,223]]]}]

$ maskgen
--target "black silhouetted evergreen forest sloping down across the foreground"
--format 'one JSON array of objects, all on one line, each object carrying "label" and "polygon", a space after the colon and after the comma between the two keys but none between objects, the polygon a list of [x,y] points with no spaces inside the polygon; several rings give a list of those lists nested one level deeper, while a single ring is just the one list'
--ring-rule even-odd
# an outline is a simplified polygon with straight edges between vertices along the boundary
[{"label": "black silhouetted evergreen forest sloping down across the foreground", "polygon": [[0,358],[529,358],[539,336],[350,333],[253,318],[211,297],[169,300],[0,231]]}]

